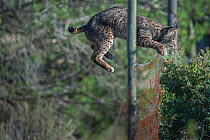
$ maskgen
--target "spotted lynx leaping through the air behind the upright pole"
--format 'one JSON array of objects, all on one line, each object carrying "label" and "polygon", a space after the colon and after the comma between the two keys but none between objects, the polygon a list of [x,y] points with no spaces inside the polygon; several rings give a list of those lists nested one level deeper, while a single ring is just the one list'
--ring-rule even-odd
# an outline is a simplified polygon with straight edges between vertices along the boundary
[{"label": "spotted lynx leaping through the air behind the upright pole", "polygon": [[[166,55],[167,50],[161,43],[175,46],[175,30],[178,26],[164,26],[149,18],[137,16],[137,46],[154,48],[161,55]],[[90,21],[79,28],[69,27],[68,31],[73,34],[84,32],[91,41],[94,50],[91,59],[94,63],[114,72],[114,68],[102,58],[113,59],[108,50],[113,45],[113,40],[118,37],[126,39],[127,36],[127,8],[113,7],[93,16]]]}]

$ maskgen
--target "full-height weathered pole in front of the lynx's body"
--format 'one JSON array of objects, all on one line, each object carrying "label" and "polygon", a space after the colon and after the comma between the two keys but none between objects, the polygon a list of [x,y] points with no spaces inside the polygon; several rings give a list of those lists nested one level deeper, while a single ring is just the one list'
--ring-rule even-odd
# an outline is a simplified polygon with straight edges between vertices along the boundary
[{"label": "full-height weathered pole in front of the lynx's body", "polygon": [[136,106],[136,0],[128,0],[128,140],[137,140]]}]

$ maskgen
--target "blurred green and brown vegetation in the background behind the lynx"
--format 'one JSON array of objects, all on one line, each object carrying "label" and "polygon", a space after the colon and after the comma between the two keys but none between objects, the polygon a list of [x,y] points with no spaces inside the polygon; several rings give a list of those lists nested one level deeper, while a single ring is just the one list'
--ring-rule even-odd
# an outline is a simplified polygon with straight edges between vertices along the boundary
[{"label": "blurred green and brown vegetation in the background behind the lynx", "polygon": [[[209,5],[208,0],[178,1],[183,63],[196,57],[199,48],[210,46]],[[67,28],[84,25],[96,13],[114,6],[126,7],[127,1],[0,0],[0,139],[112,137],[127,94],[126,42],[115,40],[111,48],[115,58],[107,60],[115,67],[110,74],[91,61],[92,50],[84,34],[69,34]],[[167,25],[166,0],[138,0],[137,13]],[[138,62],[148,62],[155,53],[138,48]],[[145,73],[137,76],[138,87],[145,75],[154,72]],[[207,88],[204,93],[209,94]],[[126,138],[125,124],[115,129],[116,139]]]}]

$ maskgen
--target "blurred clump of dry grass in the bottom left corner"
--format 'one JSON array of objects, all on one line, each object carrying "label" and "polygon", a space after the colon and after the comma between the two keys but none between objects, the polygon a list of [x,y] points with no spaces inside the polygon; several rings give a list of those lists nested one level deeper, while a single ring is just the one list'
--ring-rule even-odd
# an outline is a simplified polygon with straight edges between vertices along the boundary
[{"label": "blurred clump of dry grass in the bottom left corner", "polygon": [[66,140],[74,139],[74,123],[58,112],[54,99],[17,102],[12,107],[0,102],[2,140]]}]

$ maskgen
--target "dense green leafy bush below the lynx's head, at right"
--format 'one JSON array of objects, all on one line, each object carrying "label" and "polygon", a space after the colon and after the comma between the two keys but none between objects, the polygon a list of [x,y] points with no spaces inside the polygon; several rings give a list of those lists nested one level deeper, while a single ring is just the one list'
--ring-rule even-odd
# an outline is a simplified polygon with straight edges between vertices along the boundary
[{"label": "dense green leafy bush below the lynx's head, at right", "polygon": [[189,64],[167,61],[161,76],[161,139],[210,137],[210,49]]}]

